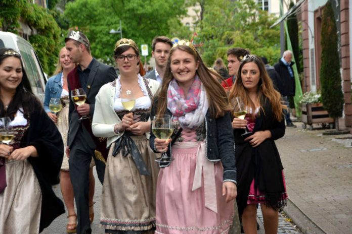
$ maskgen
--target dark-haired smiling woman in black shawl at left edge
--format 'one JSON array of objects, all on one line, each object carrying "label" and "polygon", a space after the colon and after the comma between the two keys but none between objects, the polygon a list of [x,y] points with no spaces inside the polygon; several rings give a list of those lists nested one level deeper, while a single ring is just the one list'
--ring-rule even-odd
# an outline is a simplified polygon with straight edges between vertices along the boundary
[{"label": "dark-haired smiling woman in black shawl at left edge", "polygon": [[8,48],[0,49],[0,117],[10,118],[14,132],[0,145],[0,233],[39,233],[65,212],[50,184],[63,142],[32,94],[19,53]]}]

